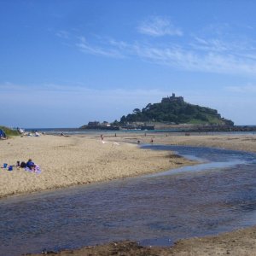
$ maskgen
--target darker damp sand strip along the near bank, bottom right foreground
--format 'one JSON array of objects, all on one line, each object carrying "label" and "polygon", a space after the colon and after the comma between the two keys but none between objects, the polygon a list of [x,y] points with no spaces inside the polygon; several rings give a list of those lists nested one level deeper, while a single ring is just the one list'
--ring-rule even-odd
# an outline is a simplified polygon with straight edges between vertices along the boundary
[{"label": "darker damp sand strip along the near bank, bottom right foreground", "polygon": [[[47,253],[56,255],[56,253]],[[39,255],[39,254],[34,254]],[[207,236],[177,241],[173,247],[141,247],[137,242],[111,242],[107,245],[84,247],[78,250],[64,250],[57,255],[123,255],[123,256],[255,256],[256,228],[236,230],[219,236]]]}]

